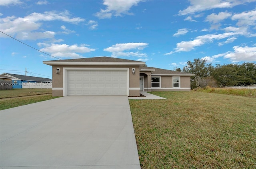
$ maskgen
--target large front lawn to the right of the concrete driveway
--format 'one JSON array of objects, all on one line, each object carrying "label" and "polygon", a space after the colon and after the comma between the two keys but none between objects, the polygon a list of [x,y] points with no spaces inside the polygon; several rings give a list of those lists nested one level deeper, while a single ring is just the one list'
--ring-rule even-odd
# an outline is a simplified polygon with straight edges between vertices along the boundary
[{"label": "large front lawn to the right of the concrete driveway", "polygon": [[152,93],[129,100],[142,169],[255,168],[256,98]]}]

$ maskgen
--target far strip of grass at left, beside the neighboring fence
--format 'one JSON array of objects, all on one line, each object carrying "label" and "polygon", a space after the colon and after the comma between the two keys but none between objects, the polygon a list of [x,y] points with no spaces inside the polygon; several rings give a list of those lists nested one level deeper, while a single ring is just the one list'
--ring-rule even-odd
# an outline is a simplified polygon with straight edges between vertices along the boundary
[{"label": "far strip of grass at left, beside the neighboring fence", "polygon": [[0,99],[52,93],[52,89],[12,89],[0,90]]}]

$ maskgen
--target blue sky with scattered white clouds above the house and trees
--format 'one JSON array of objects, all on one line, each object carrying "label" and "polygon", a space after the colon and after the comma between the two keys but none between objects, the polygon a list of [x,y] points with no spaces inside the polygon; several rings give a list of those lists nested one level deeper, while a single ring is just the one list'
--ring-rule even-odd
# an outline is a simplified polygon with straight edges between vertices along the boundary
[{"label": "blue sky with scattered white clouds above the house and trees", "polygon": [[[0,30],[60,59],[149,67],[256,62],[256,0],[1,0]],[[0,33],[0,73],[52,77],[56,60]],[[43,76],[42,76],[43,75]]]}]

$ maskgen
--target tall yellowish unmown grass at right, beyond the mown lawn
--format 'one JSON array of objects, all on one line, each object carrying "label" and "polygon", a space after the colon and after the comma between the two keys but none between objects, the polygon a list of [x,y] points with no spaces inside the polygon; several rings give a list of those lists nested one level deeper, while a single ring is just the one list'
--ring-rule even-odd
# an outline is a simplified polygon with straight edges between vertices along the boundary
[{"label": "tall yellowish unmown grass at right, beyond the mown lawn", "polygon": [[230,89],[230,88],[214,88],[214,87],[206,87],[206,88],[197,88],[194,91],[201,91],[206,93],[219,93],[219,94],[227,94],[227,95],[241,95],[246,97],[255,97],[256,98],[256,89]]}]

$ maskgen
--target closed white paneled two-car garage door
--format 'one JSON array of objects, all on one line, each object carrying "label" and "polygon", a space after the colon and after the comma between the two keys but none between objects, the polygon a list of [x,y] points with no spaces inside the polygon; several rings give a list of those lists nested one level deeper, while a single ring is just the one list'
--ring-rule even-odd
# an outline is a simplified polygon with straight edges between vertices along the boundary
[{"label": "closed white paneled two-car garage door", "polygon": [[127,95],[127,70],[68,70],[68,95]]}]

